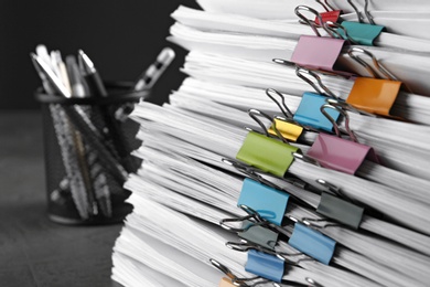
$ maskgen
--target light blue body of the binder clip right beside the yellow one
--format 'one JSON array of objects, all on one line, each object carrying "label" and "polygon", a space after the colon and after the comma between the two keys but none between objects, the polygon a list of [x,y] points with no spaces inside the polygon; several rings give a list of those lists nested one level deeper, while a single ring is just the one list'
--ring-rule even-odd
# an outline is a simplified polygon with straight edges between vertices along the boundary
[{"label": "light blue body of the binder clip right beside the yellow one", "polygon": [[[326,104],[326,98],[315,93],[304,93],[293,119],[303,126],[311,126],[332,132],[333,124],[320,110],[321,106]],[[334,120],[337,120],[340,116],[337,110],[331,109],[326,113]]]}]

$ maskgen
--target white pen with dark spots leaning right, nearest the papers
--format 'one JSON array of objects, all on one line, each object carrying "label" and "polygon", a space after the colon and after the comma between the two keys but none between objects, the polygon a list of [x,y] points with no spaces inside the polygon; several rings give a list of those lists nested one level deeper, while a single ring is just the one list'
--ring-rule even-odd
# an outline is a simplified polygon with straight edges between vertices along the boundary
[{"label": "white pen with dark spots leaning right, nearest the papers", "polygon": [[174,56],[174,51],[171,47],[164,47],[161,50],[155,62],[152,63],[135,83],[135,91],[151,88],[163,74],[164,70],[170,65],[170,63],[172,63]]}]

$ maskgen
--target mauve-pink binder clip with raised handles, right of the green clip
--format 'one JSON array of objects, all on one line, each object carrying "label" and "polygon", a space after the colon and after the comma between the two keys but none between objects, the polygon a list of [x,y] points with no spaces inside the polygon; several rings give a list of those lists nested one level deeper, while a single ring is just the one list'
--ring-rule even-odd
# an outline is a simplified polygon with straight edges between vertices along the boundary
[{"label": "mauve-pink binder clip with raised handles, right of the green clip", "polygon": [[[337,110],[345,117],[346,132],[352,140],[341,138],[337,124],[326,113],[325,108]],[[332,123],[336,136],[319,134],[307,153],[308,157],[315,159],[324,168],[342,171],[352,176],[355,174],[365,159],[378,162],[373,148],[357,142],[354,132],[350,130],[348,116],[343,109],[324,104],[320,107],[320,110]]]}]

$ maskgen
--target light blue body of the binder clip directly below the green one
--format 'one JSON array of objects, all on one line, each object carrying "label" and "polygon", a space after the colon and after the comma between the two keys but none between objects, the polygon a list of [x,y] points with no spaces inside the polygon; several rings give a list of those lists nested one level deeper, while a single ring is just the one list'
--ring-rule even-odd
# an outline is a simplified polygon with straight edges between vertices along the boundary
[{"label": "light blue body of the binder clip directly below the green one", "polygon": [[286,192],[247,178],[241,185],[237,205],[249,206],[257,211],[262,219],[281,225],[289,198],[290,195]]}]

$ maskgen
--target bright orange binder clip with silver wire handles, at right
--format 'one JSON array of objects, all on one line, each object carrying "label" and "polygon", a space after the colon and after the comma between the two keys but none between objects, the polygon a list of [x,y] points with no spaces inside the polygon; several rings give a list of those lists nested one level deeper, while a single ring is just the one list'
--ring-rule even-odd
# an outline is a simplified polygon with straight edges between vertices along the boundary
[{"label": "bright orange binder clip with silver wire handles, at right", "polygon": [[368,51],[358,47],[351,49],[348,51],[350,56],[366,67],[374,77],[377,77],[377,72],[361,57],[356,56],[354,52],[370,56],[375,67],[389,79],[357,77],[346,98],[346,103],[367,113],[394,118],[390,115],[390,109],[396,102],[402,83],[390,74]]}]

